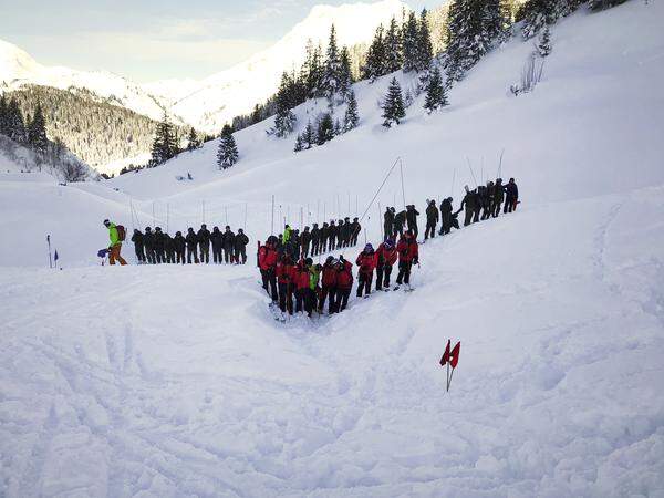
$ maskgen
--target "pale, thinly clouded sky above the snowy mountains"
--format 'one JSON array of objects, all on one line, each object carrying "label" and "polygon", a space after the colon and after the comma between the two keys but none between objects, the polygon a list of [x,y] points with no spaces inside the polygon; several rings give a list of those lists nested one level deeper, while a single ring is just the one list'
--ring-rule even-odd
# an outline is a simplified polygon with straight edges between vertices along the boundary
[{"label": "pale, thinly clouded sky above the snowy mountains", "polygon": [[[422,9],[442,1],[406,3]],[[269,46],[313,6],[352,2],[0,0],[0,39],[45,65],[105,69],[138,82],[201,79]]]}]

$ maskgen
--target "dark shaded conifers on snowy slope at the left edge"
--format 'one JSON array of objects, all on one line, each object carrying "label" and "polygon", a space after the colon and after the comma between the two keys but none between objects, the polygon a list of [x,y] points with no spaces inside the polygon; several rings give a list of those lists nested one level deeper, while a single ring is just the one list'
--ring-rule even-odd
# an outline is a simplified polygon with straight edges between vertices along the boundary
[{"label": "dark shaded conifers on snowy slope at the left edge", "polygon": [[46,135],[46,118],[40,102],[33,104],[34,112],[24,114],[21,110],[18,98],[0,95],[0,147],[7,156],[13,160],[19,160],[17,154],[19,146],[30,151],[32,164],[24,160],[27,170],[33,167],[41,168],[46,166],[51,173],[56,173],[65,181],[82,181],[90,173],[87,166],[74,157],[62,143],[55,138],[49,139]]}]

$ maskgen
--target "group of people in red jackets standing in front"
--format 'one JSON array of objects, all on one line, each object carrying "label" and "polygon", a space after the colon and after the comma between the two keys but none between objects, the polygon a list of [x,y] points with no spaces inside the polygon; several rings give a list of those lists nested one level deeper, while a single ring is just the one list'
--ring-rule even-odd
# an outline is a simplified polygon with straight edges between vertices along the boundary
[{"label": "group of people in red jackets standing in front", "polygon": [[[270,236],[264,245],[259,245],[258,267],[262,287],[271,297],[272,307],[281,313],[322,313],[328,302],[328,313],[339,313],[347,307],[353,288],[353,264],[343,256],[329,256],[324,264],[314,264],[311,258],[302,256],[298,261],[291,253],[280,250],[279,239]],[[398,262],[396,289],[405,284],[409,288],[411,269],[419,262],[417,239],[407,230],[397,243],[387,238],[374,250],[367,243],[355,259],[357,268],[357,290],[360,298],[369,297],[375,279],[377,291],[390,289],[390,278],[394,264]]]}]

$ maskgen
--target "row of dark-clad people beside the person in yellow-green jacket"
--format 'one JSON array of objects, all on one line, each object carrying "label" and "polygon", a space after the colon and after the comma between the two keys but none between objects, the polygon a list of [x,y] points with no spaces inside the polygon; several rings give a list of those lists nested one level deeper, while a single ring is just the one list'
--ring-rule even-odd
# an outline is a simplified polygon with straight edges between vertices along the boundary
[{"label": "row of dark-clad people beside the person in yellow-green jacket", "polygon": [[[198,231],[189,227],[187,235],[176,231],[175,237],[162,231],[160,227],[145,227],[145,232],[134,229],[132,235],[138,264],[191,264],[193,262],[215,264],[245,264],[249,237],[241,228],[234,234],[229,226],[224,231],[214,227],[209,231],[203,224]],[[211,251],[210,251],[211,248]]]}]

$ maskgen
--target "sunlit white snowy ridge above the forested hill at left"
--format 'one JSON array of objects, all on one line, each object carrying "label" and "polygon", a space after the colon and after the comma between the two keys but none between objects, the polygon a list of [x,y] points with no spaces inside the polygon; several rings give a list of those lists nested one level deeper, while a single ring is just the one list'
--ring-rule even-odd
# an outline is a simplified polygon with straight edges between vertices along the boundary
[{"label": "sunlit white snowy ridge above the forested hill at left", "polygon": [[138,84],[106,71],[76,71],[44,66],[18,46],[0,40],[0,92],[18,90],[27,84],[68,90],[85,89],[102,98],[138,114],[160,120],[163,106]]}]

